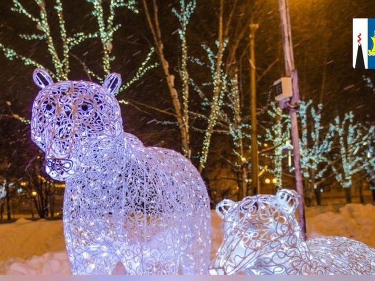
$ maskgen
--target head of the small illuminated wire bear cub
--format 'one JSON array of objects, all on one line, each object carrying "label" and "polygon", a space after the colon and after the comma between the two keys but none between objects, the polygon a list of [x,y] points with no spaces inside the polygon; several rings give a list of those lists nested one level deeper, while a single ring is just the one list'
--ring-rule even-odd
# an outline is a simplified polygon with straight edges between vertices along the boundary
[{"label": "head of the small illuminated wire bear cub", "polygon": [[298,205],[298,194],[288,189],[240,202],[221,201],[216,212],[223,219],[224,238],[210,264],[211,274],[238,274],[272,256],[275,244],[291,242],[289,237],[300,231],[294,214]]}]

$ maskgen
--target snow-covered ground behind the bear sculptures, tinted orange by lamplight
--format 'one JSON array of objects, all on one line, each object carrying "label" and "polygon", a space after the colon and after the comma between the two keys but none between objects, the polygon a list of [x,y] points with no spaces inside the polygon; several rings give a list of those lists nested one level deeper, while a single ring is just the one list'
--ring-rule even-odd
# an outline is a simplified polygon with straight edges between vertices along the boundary
[{"label": "snow-covered ground behind the bear sculptures, tinted orange by lamplight", "polygon": [[[221,243],[221,219],[212,212],[213,258]],[[306,208],[307,236],[345,236],[375,247],[375,206],[348,204]],[[62,221],[0,224],[0,274],[70,274]]]}]

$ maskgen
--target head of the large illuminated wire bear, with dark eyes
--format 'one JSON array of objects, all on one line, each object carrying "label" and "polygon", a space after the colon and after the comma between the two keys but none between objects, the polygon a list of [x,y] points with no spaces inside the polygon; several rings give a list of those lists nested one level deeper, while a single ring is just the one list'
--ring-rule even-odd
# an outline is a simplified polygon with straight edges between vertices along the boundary
[{"label": "head of the large illuminated wire bear, with dark eyes", "polygon": [[46,172],[56,180],[69,179],[82,164],[97,161],[122,134],[114,96],[121,77],[111,73],[103,85],[82,80],[54,83],[46,70],[37,68],[33,79],[41,90],[33,103],[31,138],[46,153]]}]

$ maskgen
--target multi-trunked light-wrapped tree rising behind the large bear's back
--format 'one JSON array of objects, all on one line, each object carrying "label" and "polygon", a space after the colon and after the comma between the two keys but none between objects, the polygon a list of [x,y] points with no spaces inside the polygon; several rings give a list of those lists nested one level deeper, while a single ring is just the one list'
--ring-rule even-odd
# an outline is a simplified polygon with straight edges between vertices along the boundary
[{"label": "multi-trunked light-wrapped tree rising behind the large bear's back", "polygon": [[[180,81],[175,82],[175,76],[172,74],[170,69],[170,62],[167,61],[164,55],[164,43],[162,40],[162,33],[158,18],[158,6],[156,1],[152,2],[151,5],[147,5],[146,0],[143,0],[144,11],[146,19],[153,37],[154,46],[156,53],[159,56],[159,60],[163,67],[164,77],[168,85],[168,90],[171,97],[171,102],[173,105],[172,115],[178,126],[180,137],[181,137],[181,147],[185,156],[188,157],[198,157],[199,158],[199,170],[202,172],[205,168],[205,164],[208,159],[209,149],[212,134],[214,132],[220,131],[217,129],[217,122],[220,118],[220,109],[223,106],[223,99],[228,93],[228,86],[226,83],[231,79],[229,73],[233,71],[236,64],[236,52],[239,48],[239,42],[244,37],[246,28],[241,28],[239,34],[238,30],[235,30],[233,39],[233,45],[228,49],[227,61],[224,60],[224,52],[229,43],[231,24],[234,18],[234,9],[237,5],[235,3],[231,8],[228,21],[224,21],[224,1],[220,1],[219,8],[219,19],[218,19],[218,29],[217,38],[214,44],[205,43],[202,45],[205,56],[200,59],[189,55],[188,52],[188,41],[186,38],[186,32],[188,25],[190,23],[192,14],[196,9],[196,1],[178,1],[178,9],[173,8],[172,12],[178,20],[179,27],[178,38],[181,42],[181,58],[178,64],[178,73]],[[152,10],[150,9],[152,7]],[[152,13],[153,12],[153,13]],[[241,57],[242,58],[242,57]],[[192,77],[189,73],[188,63],[193,62],[204,69],[208,70],[209,79],[202,83],[198,83],[196,77]],[[179,83],[178,83],[179,82]],[[180,85],[178,88],[176,85]],[[201,98],[199,103],[202,104],[203,113],[192,112],[189,108],[189,104],[192,103],[192,93],[198,93]],[[202,128],[193,127],[191,124],[192,120],[201,119],[205,122],[205,126]],[[164,122],[163,124],[170,125],[171,122]],[[191,134],[192,131],[199,131],[203,133],[203,139],[201,142],[201,149],[199,151],[192,151],[191,147]]]}]

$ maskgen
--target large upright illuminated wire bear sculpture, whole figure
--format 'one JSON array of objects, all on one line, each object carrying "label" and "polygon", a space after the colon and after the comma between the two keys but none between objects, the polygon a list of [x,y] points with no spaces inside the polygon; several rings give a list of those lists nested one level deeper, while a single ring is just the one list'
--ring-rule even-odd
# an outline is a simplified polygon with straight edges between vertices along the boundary
[{"label": "large upright illuminated wire bear sculpture, whole figure", "polygon": [[[211,214],[205,184],[179,153],[145,147],[124,133],[114,96],[121,77],[103,86],[54,83],[42,88],[31,136],[46,153],[46,172],[66,181],[63,224],[73,274],[205,274]],[[123,268],[122,265],[123,265]]]}]

